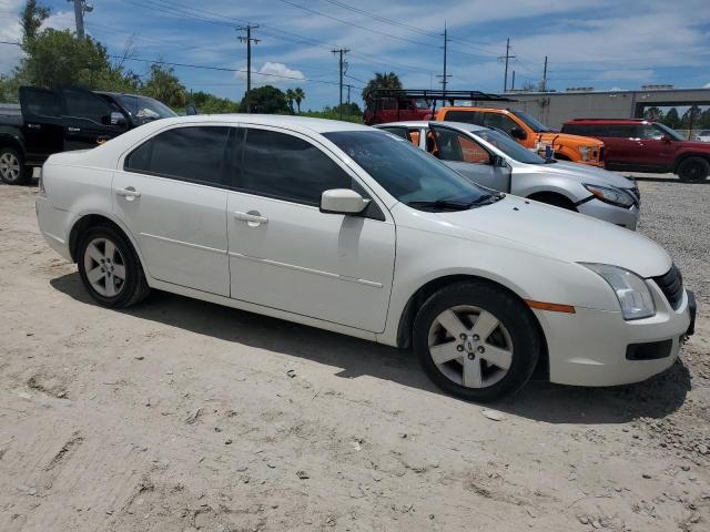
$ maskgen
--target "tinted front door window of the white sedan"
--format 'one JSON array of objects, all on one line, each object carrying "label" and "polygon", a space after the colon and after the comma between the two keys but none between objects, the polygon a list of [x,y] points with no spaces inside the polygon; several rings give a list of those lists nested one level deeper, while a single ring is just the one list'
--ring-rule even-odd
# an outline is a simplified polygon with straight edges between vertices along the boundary
[{"label": "tinted front door window of the white sedan", "polygon": [[313,144],[275,131],[248,129],[240,188],[306,205],[320,205],[331,188],[353,180]]}]

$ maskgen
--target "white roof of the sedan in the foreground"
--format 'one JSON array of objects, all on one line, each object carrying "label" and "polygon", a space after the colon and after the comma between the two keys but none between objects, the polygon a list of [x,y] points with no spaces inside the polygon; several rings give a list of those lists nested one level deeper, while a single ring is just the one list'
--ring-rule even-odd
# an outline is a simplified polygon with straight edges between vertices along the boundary
[{"label": "white roof of the sedan in the foreground", "polygon": [[190,124],[253,124],[253,125],[273,125],[287,127],[291,130],[307,130],[314,133],[328,133],[335,131],[372,131],[372,127],[352,122],[341,122],[338,120],[312,119],[310,116],[290,116],[282,114],[246,114],[246,113],[225,113],[225,114],[194,114],[190,116],[174,116],[170,119],[161,119],[152,122],[159,127],[164,127],[171,123]]}]

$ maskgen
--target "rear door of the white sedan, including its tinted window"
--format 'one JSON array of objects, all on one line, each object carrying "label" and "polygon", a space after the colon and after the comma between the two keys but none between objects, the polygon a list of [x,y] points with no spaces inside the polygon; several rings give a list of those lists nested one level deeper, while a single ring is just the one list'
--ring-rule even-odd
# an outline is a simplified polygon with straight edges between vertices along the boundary
[{"label": "rear door of the white sedan, including its tinted window", "polygon": [[226,166],[234,131],[182,125],[145,141],[113,177],[113,212],[138,242],[150,275],[230,295]]}]

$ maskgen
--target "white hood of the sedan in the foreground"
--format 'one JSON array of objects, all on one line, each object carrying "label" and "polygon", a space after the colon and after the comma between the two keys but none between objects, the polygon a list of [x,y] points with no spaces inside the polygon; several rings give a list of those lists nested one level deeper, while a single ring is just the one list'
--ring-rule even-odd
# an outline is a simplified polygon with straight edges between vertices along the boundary
[{"label": "white hood of the sedan in the foreground", "polygon": [[642,277],[663,275],[668,253],[650,238],[589,216],[507,195],[493,205],[436,213],[446,231],[507,241],[550,258],[620,266]]}]

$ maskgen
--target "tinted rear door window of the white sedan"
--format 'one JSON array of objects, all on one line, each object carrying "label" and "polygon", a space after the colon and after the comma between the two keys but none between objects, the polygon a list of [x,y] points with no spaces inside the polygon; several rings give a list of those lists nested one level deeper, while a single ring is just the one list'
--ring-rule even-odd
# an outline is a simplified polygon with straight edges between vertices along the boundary
[{"label": "tinted rear door window of the white sedan", "polygon": [[225,172],[229,132],[229,127],[222,126],[169,130],[131,152],[124,168],[180,181],[231,186],[231,176]]}]

